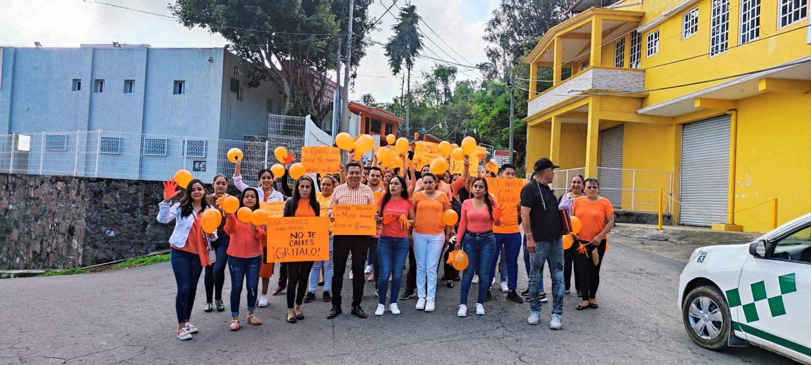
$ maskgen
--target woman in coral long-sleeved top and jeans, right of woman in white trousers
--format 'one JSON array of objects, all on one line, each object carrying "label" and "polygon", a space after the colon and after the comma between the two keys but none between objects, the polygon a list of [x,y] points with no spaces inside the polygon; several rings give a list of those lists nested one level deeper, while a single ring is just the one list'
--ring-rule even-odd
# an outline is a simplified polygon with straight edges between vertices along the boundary
[{"label": "woman in coral long-sleeved top and jeans, right of woman in white trousers", "polygon": [[493,255],[496,254],[493,225],[501,225],[501,209],[495,200],[490,199],[485,178],[473,180],[472,193],[473,197],[461,204],[461,220],[456,243],[456,249],[464,247],[470,260],[461,278],[461,298],[457,312],[457,316],[460,317],[467,316],[467,295],[470,292],[473,274],[477,272],[480,284],[476,299],[476,314],[484,315],[484,298],[489,290],[485,283],[490,282],[490,264]]}]

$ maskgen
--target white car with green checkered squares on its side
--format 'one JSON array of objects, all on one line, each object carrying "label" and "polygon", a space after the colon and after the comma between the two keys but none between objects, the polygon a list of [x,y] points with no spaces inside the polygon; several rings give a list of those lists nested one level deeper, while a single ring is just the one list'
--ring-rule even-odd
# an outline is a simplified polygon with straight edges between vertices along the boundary
[{"label": "white car with green checkered squares on its side", "polygon": [[749,343],[811,363],[811,214],[752,243],[699,247],[679,280],[684,328],[710,350]]}]

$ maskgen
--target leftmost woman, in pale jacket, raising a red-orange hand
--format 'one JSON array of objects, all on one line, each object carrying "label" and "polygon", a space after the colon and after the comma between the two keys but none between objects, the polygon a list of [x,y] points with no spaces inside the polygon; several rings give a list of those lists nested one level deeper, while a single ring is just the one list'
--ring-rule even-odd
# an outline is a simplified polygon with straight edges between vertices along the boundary
[{"label": "leftmost woman, in pale jacket, raising a red-orange hand", "polygon": [[174,280],[178,285],[178,294],[174,299],[174,310],[178,315],[178,333],[180,340],[191,340],[191,333],[197,328],[189,323],[191,307],[195,303],[197,281],[203,265],[210,265],[206,251],[208,242],[217,240],[217,231],[204,234],[200,223],[200,213],[209,208],[205,200],[205,187],[203,182],[193,179],[187,185],[186,192],[178,203],[171,204],[171,200],[180,191],[176,190],[178,183],[167,180],[163,184],[163,201],[158,204],[157,221],[170,223],[174,221],[174,231],[169,237],[171,249],[172,271]]}]

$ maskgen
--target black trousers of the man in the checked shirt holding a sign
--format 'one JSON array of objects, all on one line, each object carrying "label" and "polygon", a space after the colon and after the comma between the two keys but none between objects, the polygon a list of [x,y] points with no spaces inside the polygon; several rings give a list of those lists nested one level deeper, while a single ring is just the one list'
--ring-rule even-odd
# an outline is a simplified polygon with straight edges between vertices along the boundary
[{"label": "black trousers of the man in the checked shirt holding a sign", "polygon": [[[335,236],[333,238],[333,306],[341,306],[341,289],[344,287],[346,260],[352,252],[352,305],[360,305],[363,299],[363,266],[366,264],[366,253],[369,249],[368,236]],[[416,281],[416,280],[415,280]]]}]

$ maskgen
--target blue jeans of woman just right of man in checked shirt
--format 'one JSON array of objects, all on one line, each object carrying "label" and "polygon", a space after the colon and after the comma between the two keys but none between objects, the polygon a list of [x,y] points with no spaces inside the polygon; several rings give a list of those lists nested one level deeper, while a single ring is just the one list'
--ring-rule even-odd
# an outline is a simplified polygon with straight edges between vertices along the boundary
[{"label": "blue jeans of woman just right of man in checked shirt", "polygon": [[386,304],[388,275],[392,276],[391,303],[397,303],[403,278],[405,258],[408,257],[408,237],[388,237],[381,235],[377,241],[377,263],[380,264],[380,275],[377,279],[377,292],[380,298],[377,303]]}]

